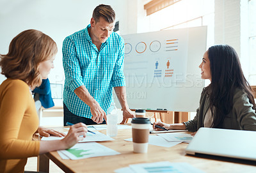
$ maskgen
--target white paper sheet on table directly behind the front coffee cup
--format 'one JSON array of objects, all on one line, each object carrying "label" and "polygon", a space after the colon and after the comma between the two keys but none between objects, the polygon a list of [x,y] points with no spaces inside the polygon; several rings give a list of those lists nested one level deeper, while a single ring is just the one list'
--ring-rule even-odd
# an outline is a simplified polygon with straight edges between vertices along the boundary
[{"label": "white paper sheet on table directly behind the front coffee cup", "polygon": [[[132,138],[125,139],[127,141],[132,141]],[[169,142],[168,140],[165,140],[163,137],[159,137],[157,135],[149,135],[148,136],[148,144],[154,145],[154,146],[160,146],[160,147],[172,147],[176,146],[177,144],[180,144],[181,142]]]}]

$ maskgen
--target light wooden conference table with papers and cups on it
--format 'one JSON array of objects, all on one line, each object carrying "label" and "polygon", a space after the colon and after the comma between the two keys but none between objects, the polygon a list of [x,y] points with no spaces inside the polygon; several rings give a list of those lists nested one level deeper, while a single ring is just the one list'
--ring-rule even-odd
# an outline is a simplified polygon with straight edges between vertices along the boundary
[{"label": "light wooden conference table with papers and cups on it", "polygon": [[[60,132],[63,127],[54,128]],[[66,130],[67,131],[67,130]],[[100,130],[106,134],[106,130]],[[187,132],[189,133],[189,132]],[[148,145],[148,153],[133,153],[132,142],[124,139],[131,138],[131,129],[118,130],[118,135],[112,141],[98,142],[106,147],[114,149],[121,154],[115,156],[100,156],[81,160],[62,160],[54,151],[43,154],[38,158],[38,170],[49,172],[49,159],[52,160],[64,172],[114,172],[122,167],[129,167],[136,163],[151,162],[187,162],[204,172],[256,172],[256,162],[221,158],[216,156],[191,156],[186,155],[188,144],[181,143],[173,147],[158,147]],[[232,145],[232,144],[230,144]]]}]

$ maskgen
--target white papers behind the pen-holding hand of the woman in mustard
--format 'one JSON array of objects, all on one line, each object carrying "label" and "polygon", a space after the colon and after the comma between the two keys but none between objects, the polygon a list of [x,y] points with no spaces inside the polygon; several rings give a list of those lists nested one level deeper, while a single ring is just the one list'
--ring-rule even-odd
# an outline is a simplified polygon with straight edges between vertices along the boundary
[{"label": "white papers behind the pen-holding hand of the woman in mustard", "polygon": [[[64,132],[64,133],[68,133],[68,132]],[[100,132],[94,132],[90,133],[87,132],[86,137],[83,140],[80,140],[79,142],[97,142],[97,141],[106,141],[106,140],[114,140],[111,137],[108,137],[107,135],[100,133]],[[50,137],[42,137],[41,140],[60,140],[63,139],[64,137],[54,137],[54,136],[50,136]]]}]

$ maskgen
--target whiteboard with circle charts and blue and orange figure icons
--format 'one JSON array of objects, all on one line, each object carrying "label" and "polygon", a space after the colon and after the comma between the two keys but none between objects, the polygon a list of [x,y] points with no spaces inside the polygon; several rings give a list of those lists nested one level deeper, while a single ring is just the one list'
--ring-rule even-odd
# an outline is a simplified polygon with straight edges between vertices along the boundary
[{"label": "whiteboard with circle charts and blue and orange figure icons", "polygon": [[123,38],[129,107],[195,112],[204,87],[198,66],[206,50],[207,26]]}]

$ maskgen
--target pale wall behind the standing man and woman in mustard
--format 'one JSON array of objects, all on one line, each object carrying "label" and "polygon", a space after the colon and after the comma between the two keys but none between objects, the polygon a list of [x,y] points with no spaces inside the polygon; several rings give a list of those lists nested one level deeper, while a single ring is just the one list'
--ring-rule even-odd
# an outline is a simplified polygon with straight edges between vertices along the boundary
[{"label": "pale wall behind the standing man and woman in mustard", "polygon": [[[86,27],[94,8],[102,3],[111,5],[116,11],[120,34],[131,33],[134,26],[129,23],[136,18],[136,13],[135,16],[128,15],[127,1],[129,0],[0,0],[0,54],[8,52],[10,41],[20,32],[38,29],[51,36],[58,45],[55,68],[49,74],[49,80],[51,83],[63,84],[65,76],[61,49],[65,37]],[[132,8],[131,3],[129,6]],[[4,79],[0,75],[0,84]]]}]

